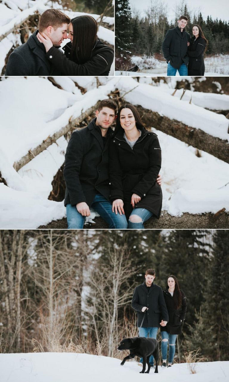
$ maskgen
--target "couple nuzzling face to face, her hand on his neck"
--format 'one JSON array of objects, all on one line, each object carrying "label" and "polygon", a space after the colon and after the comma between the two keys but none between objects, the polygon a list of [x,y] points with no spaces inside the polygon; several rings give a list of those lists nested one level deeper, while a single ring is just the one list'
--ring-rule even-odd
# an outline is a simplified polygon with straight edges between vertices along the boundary
[{"label": "couple nuzzling face to face, her hand on his neck", "polygon": [[[70,19],[57,9],[44,11],[38,30],[10,54],[5,76],[107,76],[114,50],[98,39],[97,29],[91,16]],[[63,54],[58,48],[64,39],[71,41]]]}]

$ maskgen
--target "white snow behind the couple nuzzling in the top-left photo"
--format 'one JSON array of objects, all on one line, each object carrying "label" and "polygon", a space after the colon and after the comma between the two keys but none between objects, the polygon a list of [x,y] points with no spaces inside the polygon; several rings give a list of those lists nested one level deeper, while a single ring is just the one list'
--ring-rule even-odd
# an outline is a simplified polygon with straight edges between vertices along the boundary
[{"label": "white snow behind the couple nuzzling in the top-left photo", "polygon": [[[92,13],[73,12],[65,9],[58,2],[52,2],[49,0],[6,0],[0,3],[0,73],[5,65],[5,58],[10,49],[13,46],[21,45],[20,34],[12,32],[15,25],[23,23],[23,21],[30,15],[34,15],[36,11],[39,13],[44,12],[46,9],[56,8],[62,10],[70,18],[80,15],[93,16],[99,23],[100,15]],[[106,23],[108,27],[114,25],[114,17],[103,17],[103,23]],[[110,45],[114,45],[114,31],[104,26],[99,26],[97,33],[98,37]],[[2,37],[4,38],[2,39]],[[61,47],[69,42],[69,39],[65,39]],[[111,76],[114,75],[114,63],[110,69]]]}]

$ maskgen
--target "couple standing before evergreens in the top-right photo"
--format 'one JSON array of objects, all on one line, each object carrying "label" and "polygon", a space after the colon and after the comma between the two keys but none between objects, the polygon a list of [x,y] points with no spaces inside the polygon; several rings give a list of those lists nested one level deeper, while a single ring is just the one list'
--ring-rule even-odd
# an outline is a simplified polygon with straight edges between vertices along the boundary
[{"label": "couple standing before evergreens in the top-right photo", "polygon": [[206,40],[199,25],[193,25],[193,37],[185,31],[187,16],[180,16],[178,25],[169,29],[162,44],[164,58],[167,61],[167,76],[203,76],[205,64],[203,55],[206,52]]}]

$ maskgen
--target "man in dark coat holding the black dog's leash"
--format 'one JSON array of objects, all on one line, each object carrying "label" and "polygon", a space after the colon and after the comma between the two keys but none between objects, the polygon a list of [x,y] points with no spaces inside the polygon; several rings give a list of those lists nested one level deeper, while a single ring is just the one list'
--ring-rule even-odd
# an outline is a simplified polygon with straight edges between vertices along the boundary
[{"label": "man in dark coat holding the black dog's leash", "polygon": [[[160,320],[164,325],[169,320],[161,286],[153,283],[155,277],[155,270],[147,269],[145,281],[136,286],[133,293],[132,308],[138,314],[139,337],[156,338]],[[153,366],[153,361],[153,356],[150,356],[149,363],[151,366]],[[142,362],[143,359],[141,358],[140,366],[142,366]]]}]

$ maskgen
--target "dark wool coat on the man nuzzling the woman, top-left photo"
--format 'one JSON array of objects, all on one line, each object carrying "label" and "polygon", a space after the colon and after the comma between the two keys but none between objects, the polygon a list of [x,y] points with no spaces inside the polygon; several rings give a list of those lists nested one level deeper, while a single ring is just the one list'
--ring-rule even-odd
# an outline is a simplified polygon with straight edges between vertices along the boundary
[{"label": "dark wool coat on the man nuzzling the woman, top-left photo", "polygon": [[37,40],[37,33],[38,30],[29,37],[25,44],[15,48],[10,54],[5,76],[50,76],[59,74],[58,70],[47,59],[44,44]]}]

